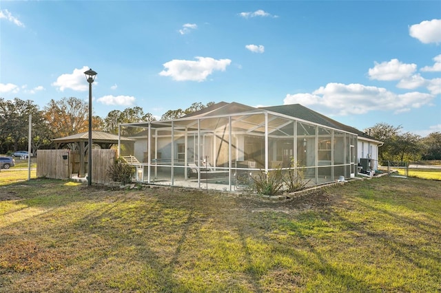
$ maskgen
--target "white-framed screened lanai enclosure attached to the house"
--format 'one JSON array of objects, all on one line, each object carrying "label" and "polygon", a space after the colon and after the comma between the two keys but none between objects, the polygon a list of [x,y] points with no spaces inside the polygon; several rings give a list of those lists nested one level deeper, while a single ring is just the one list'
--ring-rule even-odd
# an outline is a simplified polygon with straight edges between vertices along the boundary
[{"label": "white-framed screened lanai enclosure attached to the house", "polygon": [[238,191],[276,169],[302,171],[311,185],[357,171],[356,134],[265,108],[220,102],[176,120],[121,124],[120,135],[133,127],[133,153],[119,151],[136,158],[137,182]]}]

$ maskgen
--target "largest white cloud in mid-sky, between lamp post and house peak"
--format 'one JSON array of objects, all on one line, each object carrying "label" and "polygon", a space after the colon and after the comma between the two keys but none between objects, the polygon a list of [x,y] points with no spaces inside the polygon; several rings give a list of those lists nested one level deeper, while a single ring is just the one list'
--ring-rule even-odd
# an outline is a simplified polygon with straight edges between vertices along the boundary
[{"label": "largest white cloud in mid-sky, between lamp post and house peak", "polygon": [[210,57],[195,57],[197,61],[174,59],[163,66],[165,70],[159,73],[161,76],[171,76],[174,80],[204,81],[215,70],[224,72],[232,62],[229,59],[216,60]]}]

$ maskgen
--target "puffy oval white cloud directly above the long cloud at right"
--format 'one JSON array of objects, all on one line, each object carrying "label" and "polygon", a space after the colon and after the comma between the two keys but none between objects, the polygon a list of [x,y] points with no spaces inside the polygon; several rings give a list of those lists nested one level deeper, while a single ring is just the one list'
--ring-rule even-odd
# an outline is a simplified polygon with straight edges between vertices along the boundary
[{"label": "puffy oval white cloud directly above the long cloud at right", "polygon": [[369,68],[369,78],[376,80],[400,80],[407,78],[416,71],[416,64],[401,63],[398,59],[389,62],[377,63]]}]

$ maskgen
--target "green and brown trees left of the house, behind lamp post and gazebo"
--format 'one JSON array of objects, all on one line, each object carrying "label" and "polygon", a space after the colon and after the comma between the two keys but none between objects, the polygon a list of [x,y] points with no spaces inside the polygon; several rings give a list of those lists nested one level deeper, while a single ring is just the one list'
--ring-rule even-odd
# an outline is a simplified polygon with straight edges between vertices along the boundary
[{"label": "green and brown trees left of the house, behind lamp post and gazebo", "polygon": [[[169,110],[161,120],[179,118],[213,105],[194,102],[187,109]],[[53,138],[89,130],[89,105],[79,98],[70,97],[50,100],[40,109],[32,100],[6,100],[0,98],[0,153],[28,149],[29,115],[32,115],[32,153],[38,149],[51,149]],[[92,116],[92,130],[118,133],[121,123],[147,122],[156,120],[152,113],[145,113],[141,107],[129,107],[124,111],[112,110],[105,118]],[[132,135],[139,131],[134,127],[122,127],[121,135]]]}]

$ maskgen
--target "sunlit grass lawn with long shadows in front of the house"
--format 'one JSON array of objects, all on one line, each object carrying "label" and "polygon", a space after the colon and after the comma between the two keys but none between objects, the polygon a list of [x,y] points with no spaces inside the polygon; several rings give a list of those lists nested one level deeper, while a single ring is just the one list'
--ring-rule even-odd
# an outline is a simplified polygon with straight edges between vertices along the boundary
[{"label": "sunlit grass lawn with long shadows in front of the house", "polygon": [[267,203],[5,174],[0,292],[441,290],[440,181],[384,176]]}]

